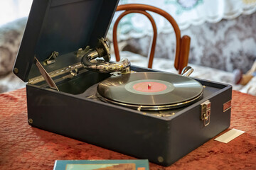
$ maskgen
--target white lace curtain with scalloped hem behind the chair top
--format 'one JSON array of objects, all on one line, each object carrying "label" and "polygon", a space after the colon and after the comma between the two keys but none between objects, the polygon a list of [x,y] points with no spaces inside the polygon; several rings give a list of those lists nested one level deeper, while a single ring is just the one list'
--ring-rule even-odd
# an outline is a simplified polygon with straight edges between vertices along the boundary
[{"label": "white lace curtain with scalloped hem behind the chair top", "polygon": [[[240,14],[250,14],[256,11],[256,0],[120,0],[119,4],[149,4],[163,9],[177,21],[181,30],[201,23],[217,23],[224,19],[233,19]],[[114,19],[119,16],[114,15]],[[170,33],[172,28],[165,18],[151,13],[156,21],[159,32]],[[146,30],[145,30],[146,28]],[[121,39],[129,36],[141,37],[151,33],[151,23],[142,14],[132,13],[125,16],[119,23]],[[131,35],[132,34],[132,35]]]}]

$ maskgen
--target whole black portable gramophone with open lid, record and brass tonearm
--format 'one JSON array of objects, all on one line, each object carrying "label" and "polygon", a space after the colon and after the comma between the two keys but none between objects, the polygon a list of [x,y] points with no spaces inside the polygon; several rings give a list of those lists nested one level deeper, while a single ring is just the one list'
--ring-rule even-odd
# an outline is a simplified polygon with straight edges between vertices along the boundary
[{"label": "whole black portable gramophone with open lid, record and brass tonearm", "polygon": [[28,123],[169,166],[229,127],[232,86],[108,62],[117,4],[33,1],[14,65]]}]

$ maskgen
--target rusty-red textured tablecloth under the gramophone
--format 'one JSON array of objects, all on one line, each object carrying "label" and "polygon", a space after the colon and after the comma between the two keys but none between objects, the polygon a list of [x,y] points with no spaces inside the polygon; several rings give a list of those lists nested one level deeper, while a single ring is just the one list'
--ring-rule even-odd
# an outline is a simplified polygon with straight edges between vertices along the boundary
[{"label": "rusty-red textured tablecloth under the gramophone", "polygon": [[[230,128],[244,134],[228,144],[212,139],[169,167],[150,169],[256,169],[256,97],[233,91],[231,113]],[[0,94],[0,169],[53,169],[56,159],[135,158],[32,128],[26,89]]]}]

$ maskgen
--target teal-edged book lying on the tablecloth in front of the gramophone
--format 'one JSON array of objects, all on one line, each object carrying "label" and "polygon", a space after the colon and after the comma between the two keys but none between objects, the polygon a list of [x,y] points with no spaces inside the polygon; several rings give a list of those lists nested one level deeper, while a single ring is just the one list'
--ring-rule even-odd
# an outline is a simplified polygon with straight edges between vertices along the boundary
[{"label": "teal-edged book lying on the tablecloth in front of the gramophone", "polygon": [[137,160],[56,160],[53,170],[149,170],[147,159]]}]

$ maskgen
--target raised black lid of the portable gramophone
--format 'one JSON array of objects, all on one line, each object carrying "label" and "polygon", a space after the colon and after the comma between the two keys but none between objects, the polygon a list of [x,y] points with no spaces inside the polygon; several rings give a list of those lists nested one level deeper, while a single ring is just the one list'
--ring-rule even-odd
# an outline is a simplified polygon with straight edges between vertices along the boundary
[{"label": "raised black lid of the portable gramophone", "polygon": [[34,0],[14,65],[16,76],[28,81],[41,75],[34,57],[43,62],[54,51],[59,57],[45,67],[47,72],[80,62],[75,52],[105,38],[118,1]]}]

